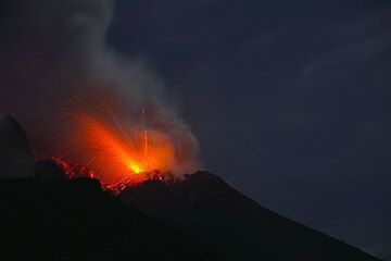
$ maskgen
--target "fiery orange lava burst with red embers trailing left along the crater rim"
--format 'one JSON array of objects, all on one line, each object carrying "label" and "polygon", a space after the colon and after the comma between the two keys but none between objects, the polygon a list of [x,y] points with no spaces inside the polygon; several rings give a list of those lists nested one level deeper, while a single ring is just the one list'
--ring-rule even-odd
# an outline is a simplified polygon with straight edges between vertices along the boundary
[{"label": "fiery orange lava burst with red embers trailing left along the crater rim", "polygon": [[50,157],[70,178],[94,177],[102,187],[122,190],[147,179],[167,181],[175,164],[175,147],[142,119],[119,121],[112,110],[67,110],[61,119],[63,136]]}]

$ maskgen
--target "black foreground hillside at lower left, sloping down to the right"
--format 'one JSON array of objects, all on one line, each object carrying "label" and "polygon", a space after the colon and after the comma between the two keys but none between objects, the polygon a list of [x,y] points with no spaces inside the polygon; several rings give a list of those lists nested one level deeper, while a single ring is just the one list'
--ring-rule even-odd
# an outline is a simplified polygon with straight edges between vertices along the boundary
[{"label": "black foreground hillside at lower left, sloping down to the right", "polygon": [[0,179],[0,260],[220,260],[94,179]]}]

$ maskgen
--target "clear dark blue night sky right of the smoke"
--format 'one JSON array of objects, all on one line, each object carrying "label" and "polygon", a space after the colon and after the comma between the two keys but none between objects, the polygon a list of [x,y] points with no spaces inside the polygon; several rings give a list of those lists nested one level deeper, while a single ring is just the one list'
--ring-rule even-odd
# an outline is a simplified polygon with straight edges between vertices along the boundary
[{"label": "clear dark blue night sky right of the smoke", "polygon": [[203,167],[391,260],[389,1],[116,1],[109,45],[178,96]]}]

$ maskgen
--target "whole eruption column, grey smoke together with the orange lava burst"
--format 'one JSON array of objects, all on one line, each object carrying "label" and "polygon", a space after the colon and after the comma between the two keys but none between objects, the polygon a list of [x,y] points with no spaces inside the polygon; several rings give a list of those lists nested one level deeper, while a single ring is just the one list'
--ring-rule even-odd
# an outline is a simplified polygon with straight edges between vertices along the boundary
[{"label": "whole eruption column, grey smoke together with the orange lava burst", "polygon": [[85,165],[108,187],[194,171],[197,139],[159,77],[105,42],[113,1],[0,8],[0,110],[39,153]]}]

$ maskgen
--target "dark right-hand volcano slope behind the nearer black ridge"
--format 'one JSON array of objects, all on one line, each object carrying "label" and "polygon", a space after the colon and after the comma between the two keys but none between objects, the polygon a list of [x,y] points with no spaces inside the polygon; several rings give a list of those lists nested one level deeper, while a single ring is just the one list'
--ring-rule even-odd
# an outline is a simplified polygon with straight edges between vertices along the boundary
[{"label": "dark right-hand volcano slope behind the nearer black ridge", "polygon": [[173,184],[148,181],[119,198],[192,234],[227,260],[378,260],[262,208],[207,172]]}]

